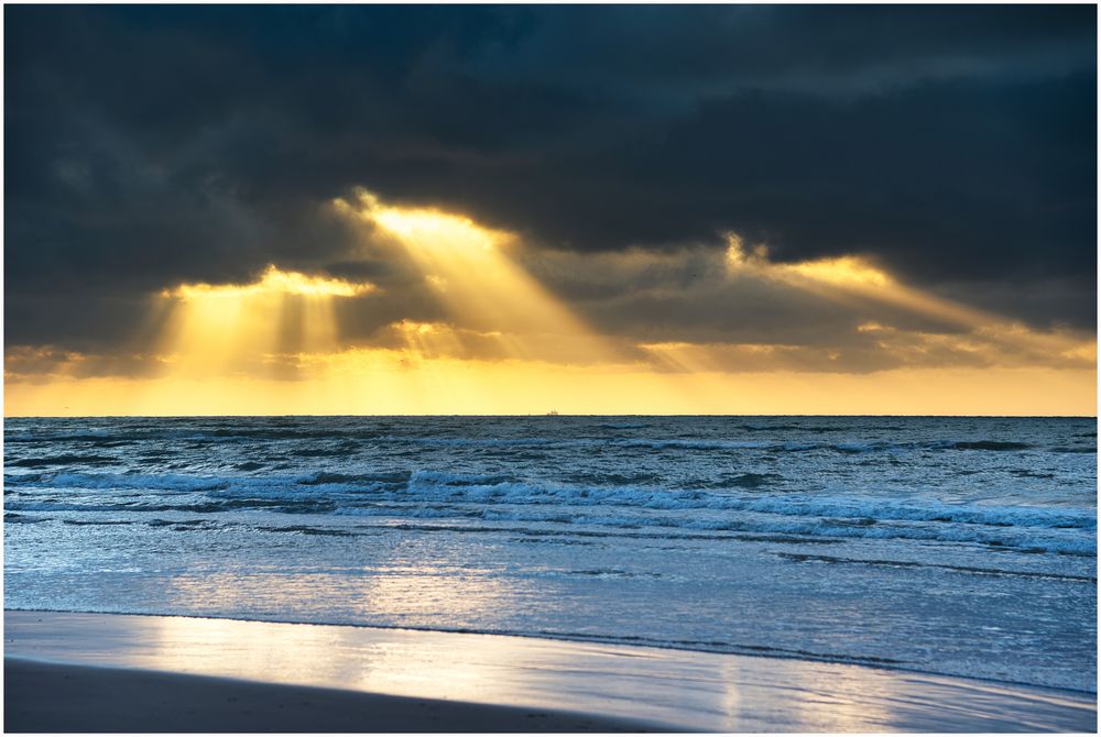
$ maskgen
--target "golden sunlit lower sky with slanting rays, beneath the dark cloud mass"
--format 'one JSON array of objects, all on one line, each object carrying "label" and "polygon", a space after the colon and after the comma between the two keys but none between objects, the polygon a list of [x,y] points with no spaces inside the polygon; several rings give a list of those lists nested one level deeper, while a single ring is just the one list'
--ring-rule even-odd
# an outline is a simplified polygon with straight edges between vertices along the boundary
[{"label": "golden sunlit lower sky with slanting rays, beneath the dark cloud mass", "polygon": [[[826,337],[836,340],[617,339],[525,271],[532,253],[513,233],[367,190],[328,209],[361,235],[349,257],[423,279],[417,299],[435,304],[419,314],[430,317],[378,319],[377,306],[394,307],[378,296],[400,295],[274,264],[246,284],[179,284],[150,296],[148,324],[124,351],[9,351],[6,414],[1095,411],[1095,336],[1031,329],[907,286],[859,255],[776,263],[731,234],[724,261],[693,256],[693,272],[715,275],[711,294],[771,282],[844,304],[854,319],[849,333]],[[599,287],[688,267],[677,254],[570,256],[567,274],[584,280],[586,270]],[[650,294],[655,304],[679,296]],[[338,322],[357,310],[371,318],[366,332]]]}]

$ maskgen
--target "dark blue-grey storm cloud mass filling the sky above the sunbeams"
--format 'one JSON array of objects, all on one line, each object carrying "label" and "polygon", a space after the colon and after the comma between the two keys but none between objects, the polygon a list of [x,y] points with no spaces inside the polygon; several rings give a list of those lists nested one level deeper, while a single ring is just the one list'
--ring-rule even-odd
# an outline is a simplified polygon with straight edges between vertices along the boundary
[{"label": "dark blue-grey storm cloud mass filling the sky above the sunbeams", "polygon": [[[1093,322],[1090,7],[4,18],[9,344],[115,341],[148,320],[127,300],[270,262],[384,279],[321,207],[357,185],[554,249],[735,230],[780,261],[864,253],[1037,323]],[[415,292],[393,278],[363,331]],[[1022,285],[1046,286],[1012,299]]]}]

